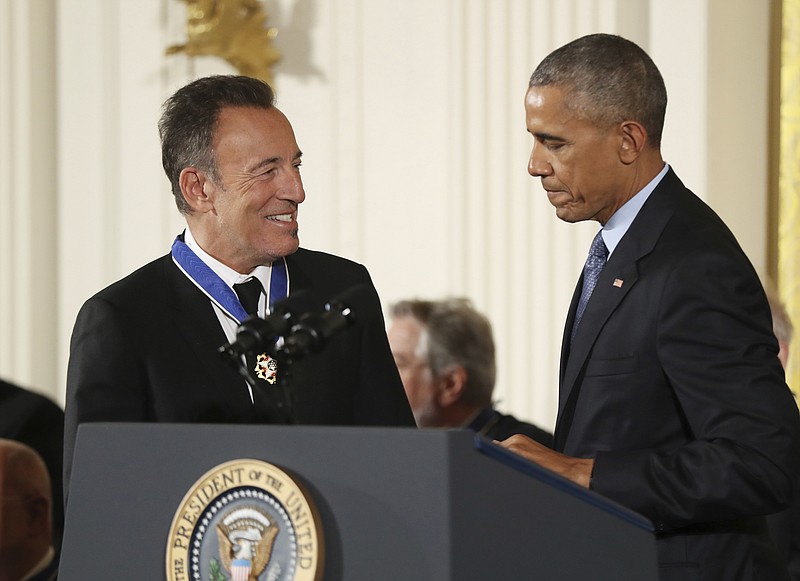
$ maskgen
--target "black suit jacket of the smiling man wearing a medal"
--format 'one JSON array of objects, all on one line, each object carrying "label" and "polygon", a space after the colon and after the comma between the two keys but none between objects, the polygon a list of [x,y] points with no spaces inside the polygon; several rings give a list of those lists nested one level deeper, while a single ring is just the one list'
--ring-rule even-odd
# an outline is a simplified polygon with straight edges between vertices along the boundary
[{"label": "black suit jacket of the smiling man wearing a medal", "polygon": [[[304,249],[287,265],[290,292],[309,291],[320,310],[355,285],[369,289],[354,305],[355,325],[291,366],[299,423],[414,426],[366,268]],[[67,373],[65,486],[84,422],[272,422],[258,392],[254,405],[245,381],[217,353],[226,343],[208,297],[170,255],[86,301]]]}]

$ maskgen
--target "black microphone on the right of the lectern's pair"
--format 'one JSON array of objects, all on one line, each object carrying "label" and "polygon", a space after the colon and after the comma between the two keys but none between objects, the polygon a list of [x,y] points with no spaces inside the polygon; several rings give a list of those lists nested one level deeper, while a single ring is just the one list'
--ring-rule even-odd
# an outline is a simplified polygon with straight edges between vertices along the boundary
[{"label": "black microphone on the right of the lectern's pair", "polygon": [[355,323],[353,305],[362,303],[368,292],[366,285],[354,286],[328,302],[324,312],[303,316],[284,337],[276,357],[291,360],[321,351],[328,339]]}]

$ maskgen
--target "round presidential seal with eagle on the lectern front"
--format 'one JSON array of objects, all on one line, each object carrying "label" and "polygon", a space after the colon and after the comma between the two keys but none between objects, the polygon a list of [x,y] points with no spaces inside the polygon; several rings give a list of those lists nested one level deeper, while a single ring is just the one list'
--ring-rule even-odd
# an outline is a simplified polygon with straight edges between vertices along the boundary
[{"label": "round presidential seal with eagle on the lectern front", "polygon": [[167,581],[319,581],[322,527],[310,497],[260,460],[233,460],[184,496],[167,539]]}]

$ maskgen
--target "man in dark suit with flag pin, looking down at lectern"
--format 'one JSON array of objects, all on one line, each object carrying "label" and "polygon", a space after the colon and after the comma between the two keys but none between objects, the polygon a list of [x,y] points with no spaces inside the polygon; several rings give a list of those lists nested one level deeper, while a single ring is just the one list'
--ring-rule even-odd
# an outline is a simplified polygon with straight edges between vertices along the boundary
[{"label": "man in dark suit with flag pin, looking down at lectern", "polygon": [[786,579],[764,515],[797,485],[797,407],[755,270],[661,157],[666,104],[618,36],[531,76],[528,171],[560,219],[602,229],[564,330],[555,451],[503,445],[652,520],[662,580]]}]

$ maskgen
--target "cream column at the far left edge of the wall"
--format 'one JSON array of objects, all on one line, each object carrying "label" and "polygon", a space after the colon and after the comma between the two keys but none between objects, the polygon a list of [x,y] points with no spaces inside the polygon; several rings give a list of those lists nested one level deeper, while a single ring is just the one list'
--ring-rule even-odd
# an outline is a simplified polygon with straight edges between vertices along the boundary
[{"label": "cream column at the far left edge of the wall", "polygon": [[0,376],[59,391],[52,0],[0,2]]}]

